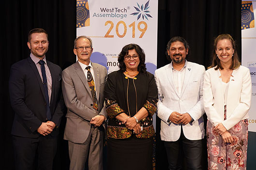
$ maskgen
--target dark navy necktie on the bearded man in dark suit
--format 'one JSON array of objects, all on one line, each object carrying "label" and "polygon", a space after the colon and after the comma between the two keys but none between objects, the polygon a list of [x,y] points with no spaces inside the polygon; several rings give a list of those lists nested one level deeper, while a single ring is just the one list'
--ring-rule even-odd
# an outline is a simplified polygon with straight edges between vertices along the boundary
[{"label": "dark navy necktie on the bearded man in dark suit", "polygon": [[45,74],[45,67],[44,67],[44,61],[40,60],[38,62],[41,65],[41,71],[42,71],[42,77],[43,77],[43,89],[44,89],[44,94],[45,94],[45,99],[46,99],[46,117],[48,120],[51,120],[51,110],[50,110],[50,104],[49,104],[49,95],[48,95],[48,88],[47,88],[47,78]]}]

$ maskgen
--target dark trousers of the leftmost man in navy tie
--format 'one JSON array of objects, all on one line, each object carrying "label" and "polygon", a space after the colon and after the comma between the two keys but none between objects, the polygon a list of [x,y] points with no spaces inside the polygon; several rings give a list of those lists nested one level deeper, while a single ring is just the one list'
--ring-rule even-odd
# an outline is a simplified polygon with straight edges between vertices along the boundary
[{"label": "dark trousers of the leftmost man in navy tie", "polygon": [[[52,170],[57,151],[57,136],[49,134],[27,138],[13,135],[13,146],[15,170],[34,170],[34,165],[37,165],[37,170]],[[35,160],[35,157],[38,159]]]}]

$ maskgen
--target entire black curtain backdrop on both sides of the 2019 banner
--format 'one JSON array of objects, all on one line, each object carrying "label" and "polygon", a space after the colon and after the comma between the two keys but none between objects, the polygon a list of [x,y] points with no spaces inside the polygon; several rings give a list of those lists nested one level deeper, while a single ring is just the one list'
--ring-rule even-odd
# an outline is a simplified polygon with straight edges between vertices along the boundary
[{"label": "entire black curtain backdrop on both sides of the 2019 banner", "polygon": [[[14,170],[11,136],[14,112],[8,93],[10,67],[29,56],[28,31],[36,27],[42,27],[48,32],[48,60],[60,65],[62,69],[74,63],[72,49],[73,40],[76,38],[76,1],[2,0],[0,8],[0,153],[3,156],[0,165],[2,170]],[[188,61],[209,66],[213,39],[222,33],[229,33],[236,39],[241,58],[241,0],[158,0],[157,68],[169,64],[165,56],[166,44],[174,36],[182,36],[188,41],[191,53]],[[63,140],[64,128],[65,117],[60,126],[54,170],[69,169],[68,145]],[[156,118],[156,131],[156,170],[167,170],[166,151],[159,135],[159,118]],[[203,170],[207,170],[205,140],[202,154]]]}]

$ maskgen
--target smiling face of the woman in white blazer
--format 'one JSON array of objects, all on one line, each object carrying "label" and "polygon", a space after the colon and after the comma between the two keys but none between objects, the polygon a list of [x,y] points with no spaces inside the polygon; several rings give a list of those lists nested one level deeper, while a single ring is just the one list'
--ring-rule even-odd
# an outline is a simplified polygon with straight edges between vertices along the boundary
[{"label": "smiling face of the woman in white blazer", "polygon": [[232,43],[229,39],[221,39],[218,41],[215,52],[220,59],[221,65],[231,65],[232,64],[232,55],[234,49]]}]

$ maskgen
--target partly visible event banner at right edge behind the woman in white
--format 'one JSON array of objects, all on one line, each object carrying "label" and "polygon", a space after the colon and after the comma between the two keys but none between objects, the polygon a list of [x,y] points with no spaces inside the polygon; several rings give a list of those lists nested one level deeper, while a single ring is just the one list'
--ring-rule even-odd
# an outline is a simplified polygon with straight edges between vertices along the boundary
[{"label": "partly visible event banner at right edge behind the woman in white", "polygon": [[256,1],[242,1],[242,65],[248,67],[252,78],[252,105],[249,111],[249,131],[256,132]]}]

